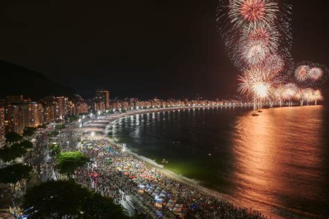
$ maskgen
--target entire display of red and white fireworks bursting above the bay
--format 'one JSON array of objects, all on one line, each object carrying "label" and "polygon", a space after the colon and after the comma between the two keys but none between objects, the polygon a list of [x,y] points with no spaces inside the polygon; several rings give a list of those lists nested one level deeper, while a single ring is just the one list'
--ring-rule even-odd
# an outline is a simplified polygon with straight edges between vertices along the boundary
[{"label": "entire display of red and white fireworks bursting above the bay", "polygon": [[[322,100],[315,90],[328,78],[326,67],[294,65],[290,55],[292,7],[278,0],[219,0],[217,28],[230,60],[242,75],[238,91],[255,101]],[[288,80],[285,84],[283,81]],[[306,88],[307,87],[307,88]]]}]

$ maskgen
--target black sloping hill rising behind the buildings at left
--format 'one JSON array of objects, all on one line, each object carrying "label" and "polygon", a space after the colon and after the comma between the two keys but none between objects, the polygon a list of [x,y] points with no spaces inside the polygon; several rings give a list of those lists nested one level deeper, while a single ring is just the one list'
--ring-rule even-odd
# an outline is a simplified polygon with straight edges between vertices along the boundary
[{"label": "black sloping hill rising behind the buildings at left", "polygon": [[74,90],[58,85],[41,73],[0,60],[0,97],[19,94],[37,100],[44,96],[71,96]]}]

